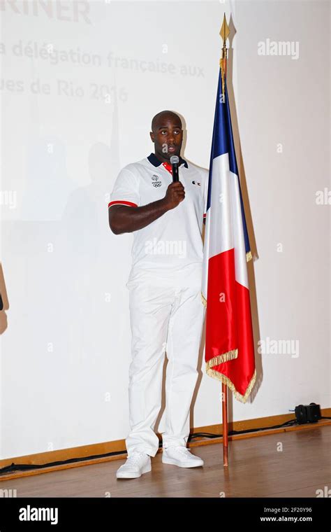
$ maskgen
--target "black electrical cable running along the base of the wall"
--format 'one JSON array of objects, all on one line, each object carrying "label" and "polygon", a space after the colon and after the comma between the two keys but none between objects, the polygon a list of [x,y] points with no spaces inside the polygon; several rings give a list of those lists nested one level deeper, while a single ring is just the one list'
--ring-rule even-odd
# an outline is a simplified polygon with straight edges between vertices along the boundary
[{"label": "black electrical cable running along the base of the wall", "polygon": [[[331,417],[324,417],[321,416],[320,419],[331,419]],[[281,423],[281,425],[274,425],[271,427],[263,427],[263,428],[248,428],[246,430],[230,430],[228,432],[229,436],[238,435],[238,434],[247,434],[247,433],[253,433],[253,432],[261,432],[263,430],[272,430],[274,428],[282,428],[282,427],[288,427],[288,426],[295,426],[299,425],[296,419],[290,419],[289,421],[285,421],[285,423]],[[222,434],[212,434],[212,433],[193,433],[189,435],[188,442],[191,442],[192,440],[196,439],[197,437],[207,437],[211,440],[214,438],[222,437]],[[162,442],[159,444],[159,448],[162,448]],[[34,469],[45,469],[45,468],[52,468],[55,465],[64,465],[67,463],[77,463],[77,462],[84,462],[88,460],[94,460],[96,458],[106,458],[107,456],[117,456],[120,454],[126,454],[126,451],[114,451],[111,453],[106,454],[96,454],[92,456],[83,456],[82,458],[69,458],[68,460],[64,461],[58,461],[58,462],[50,462],[50,463],[43,463],[43,464],[15,464],[14,462],[10,465],[6,465],[6,467],[0,469],[0,476],[1,475],[8,475],[10,472],[14,471],[29,471]]]}]

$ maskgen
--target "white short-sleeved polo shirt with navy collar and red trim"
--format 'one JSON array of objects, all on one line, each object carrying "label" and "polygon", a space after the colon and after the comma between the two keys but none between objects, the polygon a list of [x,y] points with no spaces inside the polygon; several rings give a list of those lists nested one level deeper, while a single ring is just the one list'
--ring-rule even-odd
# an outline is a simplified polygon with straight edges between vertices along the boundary
[{"label": "white short-sleeved polo shirt with navy collar and red trim", "polygon": [[[154,153],[126,165],[117,176],[108,208],[142,207],[161,200],[172,183],[172,174],[165,166]],[[179,181],[185,198],[145,228],[133,231],[128,283],[151,276],[189,284],[201,282],[208,174],[179,158]]]}]

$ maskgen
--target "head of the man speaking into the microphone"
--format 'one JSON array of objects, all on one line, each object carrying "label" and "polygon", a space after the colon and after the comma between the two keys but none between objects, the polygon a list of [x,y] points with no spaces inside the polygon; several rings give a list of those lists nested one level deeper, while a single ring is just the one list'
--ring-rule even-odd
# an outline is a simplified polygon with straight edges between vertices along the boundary
[{"label": "head of the man speaking into the microphone", "polygon": [[172,111],[161,111],[152,120],[149,133],[155,145],[155,155],[163,162],[169,162],[172,155],[180,156],[183,141],[182,120]]}]

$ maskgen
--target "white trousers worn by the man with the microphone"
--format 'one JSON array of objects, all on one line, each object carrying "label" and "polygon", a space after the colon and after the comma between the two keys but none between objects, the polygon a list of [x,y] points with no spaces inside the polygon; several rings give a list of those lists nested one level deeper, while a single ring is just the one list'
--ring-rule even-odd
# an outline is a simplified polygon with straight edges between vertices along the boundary
[{"label": "white trousers worn by the man with the microphone", "polygon": [[131,365],[129,367],[128,456],[140,451],[155,456],[159,438],[154,432],[161,409],[165,352],[165,431],[163,447],[186,446],[190,407],[198,379],[198,356],[205,307],[201,282],[172,279],[130,281]]}]

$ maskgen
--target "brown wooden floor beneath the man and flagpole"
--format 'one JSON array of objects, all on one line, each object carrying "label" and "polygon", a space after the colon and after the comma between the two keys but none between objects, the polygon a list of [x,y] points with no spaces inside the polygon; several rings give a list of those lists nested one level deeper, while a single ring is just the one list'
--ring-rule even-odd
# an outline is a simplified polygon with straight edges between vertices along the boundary
[{"label": "brown wooden floor beneath the man and flagpole", "polygon": [[[331,488],[331,426],[293,430],[229,442],[229,467],[221,444],[193,447],[203,468],[163,464],[152,458],[152,472],[117,479],[123,460],[0,482],[17,497],[316,497]],[[282,446],[282,450],[279,450]]]}]

